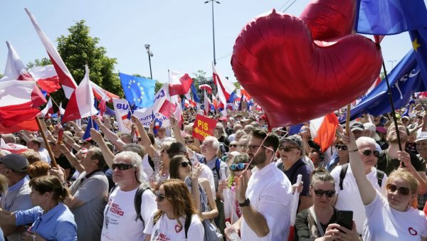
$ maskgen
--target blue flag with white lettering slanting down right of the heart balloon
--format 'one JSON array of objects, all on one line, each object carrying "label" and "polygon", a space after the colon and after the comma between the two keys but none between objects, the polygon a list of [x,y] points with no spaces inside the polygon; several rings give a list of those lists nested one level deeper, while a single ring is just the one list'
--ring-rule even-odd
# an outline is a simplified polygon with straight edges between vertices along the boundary
[{"label": "blue flag with white lettering slanting down right of the heart balloon", "polygon": [[[387,77],[389,77],[391,95],[396,109],[404,107],[411,99],[413,92],[426,90],[413,50],[405,55]],[[386,81],[381,81],[374,90],[351,109],[350,119],[355,119],[365,112],[374,116],[391,112]],[[339,122],[345,122],[345,114],[339,119]]]}]

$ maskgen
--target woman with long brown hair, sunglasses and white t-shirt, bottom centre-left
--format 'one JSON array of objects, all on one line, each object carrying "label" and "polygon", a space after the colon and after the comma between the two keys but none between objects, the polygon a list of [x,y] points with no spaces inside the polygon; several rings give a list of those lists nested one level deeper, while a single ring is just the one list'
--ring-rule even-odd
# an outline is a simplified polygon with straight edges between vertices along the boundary
[{"label": "woman with long brown hair, sunglasses and white t-shirt, bottom centre-left", "polygon": [[184,182],[164,181],[157,191],[156,201],[157,211],[144,228],[145,241],[204,240],[204,227]]}]

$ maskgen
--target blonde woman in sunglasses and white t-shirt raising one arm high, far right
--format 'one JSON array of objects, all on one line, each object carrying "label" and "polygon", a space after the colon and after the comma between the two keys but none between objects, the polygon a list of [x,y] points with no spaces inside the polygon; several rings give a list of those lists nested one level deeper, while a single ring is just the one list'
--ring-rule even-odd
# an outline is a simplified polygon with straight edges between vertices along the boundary
[{"label": "blonde woman in sunglasses and white t-shirt raising one arm high, far right", "polygon": [[404,168],[392,172],[385,182],[386,197],[372,186],[364,170],[354,136],[342,136],[349,146],[350,167],[367,216],[363,240],[427,240],[427,218],[411,207],[418,181]]}]

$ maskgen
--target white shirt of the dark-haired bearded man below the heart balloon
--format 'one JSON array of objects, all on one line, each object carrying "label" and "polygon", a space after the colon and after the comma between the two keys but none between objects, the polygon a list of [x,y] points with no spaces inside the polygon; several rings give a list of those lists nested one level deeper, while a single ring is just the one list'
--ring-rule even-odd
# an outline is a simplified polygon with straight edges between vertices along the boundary
[{"label": "white shirt of the dark-haired bearded man below the heart balloon", "polygon": [[274,163],[261,170],[253,169],[246,198],[249,198],[251,206],[264,216],[270,232],[265,237],[258,237],[243,217],[242,240],[288,240],[292,200],[290,187],[289,179]]}]

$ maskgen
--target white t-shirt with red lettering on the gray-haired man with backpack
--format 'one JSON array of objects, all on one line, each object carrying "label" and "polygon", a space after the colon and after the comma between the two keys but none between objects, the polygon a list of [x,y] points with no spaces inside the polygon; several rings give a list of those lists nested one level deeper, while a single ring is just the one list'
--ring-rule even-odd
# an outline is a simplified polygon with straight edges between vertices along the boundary
[{"label": "white t-shirt with red lettering on the gray-haired man with backpack", "polygon": [[[135,211],[135,193],[132,191],[121,191],[115,188],[108,198],[104,210],[104,222],[102,224],[101,240],[144,240],[144,224],[137,219]],[[152,191],[146,190],[142,194],[141,216],[147,224],[149,217],[157,208],[156,196]]]}]

